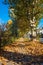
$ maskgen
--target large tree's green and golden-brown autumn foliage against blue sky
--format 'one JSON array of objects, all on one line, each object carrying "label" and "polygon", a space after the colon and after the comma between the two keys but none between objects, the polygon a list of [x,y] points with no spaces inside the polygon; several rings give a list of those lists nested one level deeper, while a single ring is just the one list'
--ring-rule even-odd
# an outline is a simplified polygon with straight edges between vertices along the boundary
[{"label": "large tree's green and golden-brown autumn foliage against blue sky", "polygon": [[33,30],[36,30],[39,23],[38,20],[43,17],[43,0],[8,0],[8,3],[9,14],[13,20],[13,26],[17,27],[15,27],[16,30],[30,29],[33,35]]}]

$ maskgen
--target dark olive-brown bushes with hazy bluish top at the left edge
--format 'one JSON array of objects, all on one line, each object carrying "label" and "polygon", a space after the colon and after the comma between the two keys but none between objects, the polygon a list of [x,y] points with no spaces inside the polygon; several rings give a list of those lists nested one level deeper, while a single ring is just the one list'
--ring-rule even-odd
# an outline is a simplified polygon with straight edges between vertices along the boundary
[{"label": "dark olive-brown bushes with hazy bluish top at the left edge", "polygon": [[8,24],[0,25],[0,48],[12,42],[10,27]]}]

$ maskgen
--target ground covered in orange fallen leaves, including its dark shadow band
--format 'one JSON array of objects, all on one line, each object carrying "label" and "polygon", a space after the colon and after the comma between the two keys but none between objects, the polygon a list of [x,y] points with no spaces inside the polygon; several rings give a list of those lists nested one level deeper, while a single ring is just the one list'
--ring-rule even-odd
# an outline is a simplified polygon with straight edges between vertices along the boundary
[{"label": "ground covered in orange fallen leaves, including its dark shadow band", "polygon": [[43,65],[43,44],[37,41],[16,41],[0,52],[3,65]]}]

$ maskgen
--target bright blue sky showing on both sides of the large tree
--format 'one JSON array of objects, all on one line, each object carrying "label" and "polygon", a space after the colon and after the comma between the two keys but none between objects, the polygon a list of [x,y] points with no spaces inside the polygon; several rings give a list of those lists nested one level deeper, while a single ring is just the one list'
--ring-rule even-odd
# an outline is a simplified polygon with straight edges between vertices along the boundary
[{"label": "bright blue sky showing on both sides of the large tree", "polygon": [[[7,21],[10,19],[8,15],[8,5],[4,5],[2,2],[4,0],[0,0],[0,22],[1,23],[7,23]],[[43,19],[40,20],[39,26],[43,26]]]}]

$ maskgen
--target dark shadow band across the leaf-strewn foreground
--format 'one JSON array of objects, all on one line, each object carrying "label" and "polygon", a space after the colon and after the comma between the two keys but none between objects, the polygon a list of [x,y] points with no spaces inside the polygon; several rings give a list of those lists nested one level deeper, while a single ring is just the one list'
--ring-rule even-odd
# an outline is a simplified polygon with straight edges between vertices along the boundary
[{"label": "dark shadow band across the leaf-strewn foreground", "polygon": [[9,61],[13,61],[19,64],[19,62],[22,63],[22,65],[31,65],[31,63],[43,63],[43,55],[35,56],[35,55],[27,55],[17,52],[9,52],[1,50],[0,56],[4,57],[5,59]]}]

